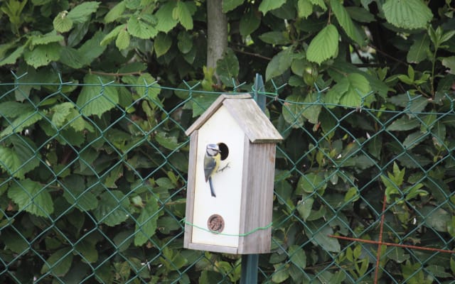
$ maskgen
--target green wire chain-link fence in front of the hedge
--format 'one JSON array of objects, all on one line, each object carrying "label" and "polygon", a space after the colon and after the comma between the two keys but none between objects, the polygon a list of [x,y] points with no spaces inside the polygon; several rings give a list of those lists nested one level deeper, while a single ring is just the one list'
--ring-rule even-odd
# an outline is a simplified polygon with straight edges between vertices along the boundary
[{"label": "green wire chain-link fence in front of the hedge", "polygon": [[[184,131],[219,93],[97,80],[0,85],[0,281],[238,283],[239,256],[183,249]],[[451,283],[453,99],[270,87],[284,141],[259,282]]]}]

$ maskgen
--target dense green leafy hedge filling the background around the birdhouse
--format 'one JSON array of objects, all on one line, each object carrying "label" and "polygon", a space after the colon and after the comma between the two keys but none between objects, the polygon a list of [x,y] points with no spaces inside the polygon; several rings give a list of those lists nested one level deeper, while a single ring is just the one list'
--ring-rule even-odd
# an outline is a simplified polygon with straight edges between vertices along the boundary
[{"label": "dense green leafy hedge filling the background around the birdhouse", "polygon": [[[205,1],[1,2],[2,281],[238,282],[237,257],[181,249],[183,130],[256,73],[286,138],[262,282],[371,283],[375,246],[327,235],[378,239],[382,214],[387,241],[453,250],[454,1],[221,5],[208,70]],[[381,252],[383,283],[455,273]]]}]

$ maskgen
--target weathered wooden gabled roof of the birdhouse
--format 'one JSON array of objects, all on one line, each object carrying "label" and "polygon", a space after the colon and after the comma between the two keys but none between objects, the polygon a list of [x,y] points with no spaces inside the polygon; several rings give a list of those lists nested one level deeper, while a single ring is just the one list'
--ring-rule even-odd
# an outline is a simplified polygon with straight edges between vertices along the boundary
[{"label": "weathered wooden gabled roof of the birdhouse", "polygon": [[205,121],[208,121],[221,106],[224,106],[232,118],[237,121],[251,143],[277,143],[283,140],[250,94],[221,94],[185,131],[186,135],[190,136],[193,131],[203,126]]}]

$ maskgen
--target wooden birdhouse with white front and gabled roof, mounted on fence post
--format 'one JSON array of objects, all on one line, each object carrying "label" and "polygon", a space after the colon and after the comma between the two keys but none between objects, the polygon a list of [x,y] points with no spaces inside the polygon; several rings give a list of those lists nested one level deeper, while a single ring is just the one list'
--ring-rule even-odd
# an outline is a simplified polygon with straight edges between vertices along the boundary
[{"label": "wooden birdhouse with white front and gabled roof, mounted on fence post", "polygon": [[[186,135],[190,158],[183,246],[269,252],[275,148],[282,136],[250,94],[220,95]],[[218,168],[213,168],[216,155]],[[212,170],[209,180],[207,168]]]}]

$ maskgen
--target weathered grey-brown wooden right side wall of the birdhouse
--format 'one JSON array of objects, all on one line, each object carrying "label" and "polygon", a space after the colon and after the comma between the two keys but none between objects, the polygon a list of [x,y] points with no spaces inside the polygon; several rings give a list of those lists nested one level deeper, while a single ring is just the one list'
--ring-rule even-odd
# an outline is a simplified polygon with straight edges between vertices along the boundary
[{"label": "weathered grey-brown wooden right side wall of the birdhouse", "polygon": [[275,153],[274,143],[253,144],[245,140],[240,234],[247,235],[240,236],[239,254],[270,251],[271,227],[248,233],[272,222]]}]

